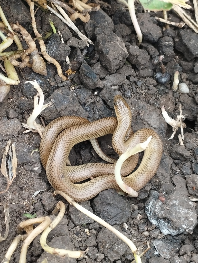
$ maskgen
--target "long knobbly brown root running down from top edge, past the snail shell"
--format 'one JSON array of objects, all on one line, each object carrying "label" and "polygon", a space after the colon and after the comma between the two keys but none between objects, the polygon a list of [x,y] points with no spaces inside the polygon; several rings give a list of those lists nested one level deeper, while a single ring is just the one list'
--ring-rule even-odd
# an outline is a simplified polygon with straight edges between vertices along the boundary
[{"label": "long knobbly brown root running down from top edge, past the snail shell", "polygon": [[45,44],[44,41],[42,39],[42,36],[39,34],[38,30],[37,30],[37,26],[36,26],[36,22],[35,22],[35,17],[34,17],[34,3],[31,2],[30,0],[26,0],[26,2],[29,4],[30,7],[30,15],[32,17],[32,27],[33,27],[33,31],[35,36],[38,39],[39,45],[40,45],[40,50],[41,50],[41,54],[43,55],[43,57],[49,62],[54,64],[57,67],[57,73],[59,75],[59,77],[62,78],[62,80],[67,80],[68,78],[66,76],[63,75],[62,69],[60,64],[57,62],[57,60],[55,60],[54,58],[50,57],[47,52],[46,52],[46,48],[45,48]]}]

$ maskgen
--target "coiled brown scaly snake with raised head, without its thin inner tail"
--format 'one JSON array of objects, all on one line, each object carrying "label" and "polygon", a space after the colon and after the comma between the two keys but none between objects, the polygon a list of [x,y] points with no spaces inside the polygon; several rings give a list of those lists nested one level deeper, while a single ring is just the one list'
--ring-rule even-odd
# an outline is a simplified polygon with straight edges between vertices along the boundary
[{"label": "coiled brown scaly snake with raised head, without its thin inner tail", "polygon": [[[105,189],[119,190],[114,178],[115,164],[88,163],[66,166],[70,150],[79,142],[112,133],[113,148],[121,155],[129,147],[134,147],[153,135],[138,169],[131,175],[122,177],[124,183],[135,191],[143,188],[159,167],[163,147],[158,134],[149,128],[143,128],[125,142],[131,125],[131,111],[119,95],[114,98],[114,108],[118,120],[109,117],[87,123],[88,121],[83,118],[66,116],[53,120],[45,128],[40,143],[40,158],[44,168],[46,167],[47,178],[54,189],[65,192],[75,201],[89,200]],[[137,154],[130,156],[121,168],[121,175],[131,173],[137,161]],[[94,179],[86,183],[72,183],[79,181],[79,177],[80,180],[84,180],[91,176]]]}]

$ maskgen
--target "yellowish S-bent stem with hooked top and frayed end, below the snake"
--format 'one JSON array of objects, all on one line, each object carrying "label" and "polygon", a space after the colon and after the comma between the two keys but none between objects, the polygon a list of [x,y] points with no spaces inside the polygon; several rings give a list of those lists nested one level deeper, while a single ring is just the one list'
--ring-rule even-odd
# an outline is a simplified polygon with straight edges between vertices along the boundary
[{"label": "yellowish S-bent stem with hooked top and frayed end, below the snake", "polygon": [[68,257],[73,257],[73,258],[82,257],[85,251],[70,251],[66,249],[58,249],[54,247],[49,247],[47,245],[46,239],[47,239],[49,232],[53,230],[55,226],[58,225],[58,223],[63,218],[64,213],[65,213],[65,205],[62,201],[59,201],[56,207],[60,209],[60,212],[58,216],[51,222],[51,224],[43,231],[43,234],[40,237],[40,245],[46,252],[53,254],[53,255],[68,256]]}]

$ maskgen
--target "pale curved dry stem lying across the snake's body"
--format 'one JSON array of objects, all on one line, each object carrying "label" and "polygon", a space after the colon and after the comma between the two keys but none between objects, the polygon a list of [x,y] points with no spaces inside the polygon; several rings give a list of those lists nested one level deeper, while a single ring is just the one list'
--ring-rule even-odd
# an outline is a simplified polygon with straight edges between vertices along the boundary
[{"label": "pale curved dry stem lying across the snake's body", "polygon": [[148,144],[150,143],[151,138],[152,138],[152,135],[143,143],[138,143],[135,147],[128,148],[125,151],[125,153],[123,153],[119,157],[119,159],[115,165],[115,170],[114,170],[115,180],[116,180],[117,184],[119,185],[119,187],[131,197],[138,197],[138,193],[135,190],[133,190],[131,187],[126,185],[123,182],[123,180],[121,179],[121,174],[120,174],[121,166],[124,163],[124,161],[126,161],[126,159],[128,159],[131,155],[139,153],[140,151],[144,151],[146,149],[146,147],[148,146]]}]

